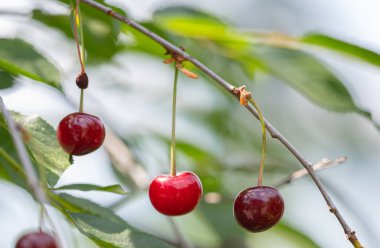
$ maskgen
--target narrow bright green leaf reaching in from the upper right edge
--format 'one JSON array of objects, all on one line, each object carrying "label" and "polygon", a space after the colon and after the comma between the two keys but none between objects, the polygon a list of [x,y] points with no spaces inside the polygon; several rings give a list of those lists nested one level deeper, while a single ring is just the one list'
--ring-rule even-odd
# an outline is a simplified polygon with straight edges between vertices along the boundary
[{"label": "narrow bright green leaf reaching in from the upper right edge", "polygon": [[369,64],[380,66],[380,54],[334,37],[313,33],[300,38],[299,41],[305,44],[324,47],[338,53],[361,59]]}]

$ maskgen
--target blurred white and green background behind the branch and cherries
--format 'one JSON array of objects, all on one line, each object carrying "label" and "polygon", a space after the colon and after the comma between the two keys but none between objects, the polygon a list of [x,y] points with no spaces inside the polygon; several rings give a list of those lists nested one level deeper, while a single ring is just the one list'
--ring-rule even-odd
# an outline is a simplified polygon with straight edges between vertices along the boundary
[{"label": "blurred white and green background behind the branch and cherries", "polygon": [[[9,109],[39,115],[53,127],[76,111],[79,102],[75,77],[80,66],[70,29],[70,8],[64,2],[0,2],[0,38],[20,38],[48,58],[59,69],[64,92],[21,76],[14,79],[12,87],[0,90],[0,95]],[[287,43],[292,40],[289,37],[317,32],[380,53],[378,1],[106,2],[174,44],[183,45],[232,84],[247,85],[265,117],[309,161],[347,156],[344,164],[318,175],[362,244],[380,246],[380,133],[376,127],[380,123],[379,67],[373,65],[376,62],[366,63],[331,52],[332,49]],[[173,67],[162,63],[167,57],[160,46],[103,14],[86,7],[82,11],[90,78],[85,110],[101,117],[123,140],[135,166],[142,171],[138,177],[144,185],[157,174],[169,171]],[[207,27],[222,27],[232,34],[212,33]],[[260,39],[272,32],[287,36],[274,36],[277,48],[261,49]],[[239,36],[242,33],[243,41]],[[252,43],[245,37],[252,37]],[[287,49],[291,45],[300,53],[290,54]],[[192,80],[180,75],[179,79],[178,167],[196,172],[204,186],[204,198],[197,210],[174,219],[189,247],[350,247],[309,177],[279,188],[286,210],[275,228],[251,234],[235,223],[235,195],[256,183],[260,126],[228,93],[190,64],[187,66],[200,78]],[[320,77],[314,75],[319,72]],[[310,93],[297,81],[307,83],[316,78],[321,82],[333,78],[342,84],[354,107],[348,104],[352,109],[334,109],[331,102],[335,93],[314,95],[318,89]],[[326,87],[333,90],[333,86]],[[336,97],[342,101],[339,94]],[[372,117],[367,118],[364,112]],[[301,169],[276,140],[268,138],[267,150],[265,184],[275,185]],[[131,179],[123,173],[102,148],[75,157],[58,186],[120,183],[131,193],[70,193],[102,206],[113,206],[132,226],[176,244],[171,223],[152,208],[147,192],[133,188]],[[38,227],[39,210],[29,193],[8,181],[0,181],[0,192],[0,244],[14,247],[20,233]],[[65,247],[96,247],[57,211],[50,211],[66,238]]]}]

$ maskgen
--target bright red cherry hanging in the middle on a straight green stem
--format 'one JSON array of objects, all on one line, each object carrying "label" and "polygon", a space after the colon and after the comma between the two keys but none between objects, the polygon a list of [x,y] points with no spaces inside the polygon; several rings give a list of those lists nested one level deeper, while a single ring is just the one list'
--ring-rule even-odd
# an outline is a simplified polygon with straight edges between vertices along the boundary
[{"label": "bright red cherry hanging in the middle on a straight green stem", "polygon": [[202,184],[192,172],[175,176],[159,175],[149,186],[149,198],[153,207],[169,216],[183,215],[192,211],[202,196]]}]

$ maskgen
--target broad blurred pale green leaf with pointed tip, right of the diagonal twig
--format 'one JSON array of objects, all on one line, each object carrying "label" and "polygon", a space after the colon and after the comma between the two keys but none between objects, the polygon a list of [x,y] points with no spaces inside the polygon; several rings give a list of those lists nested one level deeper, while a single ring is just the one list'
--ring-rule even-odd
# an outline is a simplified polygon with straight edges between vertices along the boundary
[{"label": "broad blurred pale green leaf with pointed tip, right of the diagonal twig", "polygon": [[337,112],[358,112],[359,109],[342,82],[315,57],[288,48],[256,46],[253,50],[269,73],[284,80],[314,103]]}]

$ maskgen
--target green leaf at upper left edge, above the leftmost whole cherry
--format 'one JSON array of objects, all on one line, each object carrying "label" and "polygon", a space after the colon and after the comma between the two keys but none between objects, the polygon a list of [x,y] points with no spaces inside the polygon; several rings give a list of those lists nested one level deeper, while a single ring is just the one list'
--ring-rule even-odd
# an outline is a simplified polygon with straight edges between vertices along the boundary
[{"label": "green leaf at upper left edge, above the leftmost whole cherry", "polygon": [[61,89],[57,68],[33,46],[20,39],[0,39],[0,69]]}]

